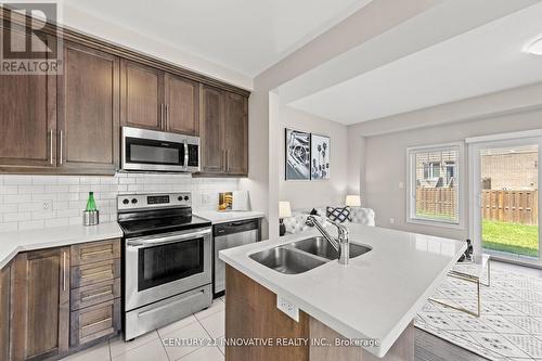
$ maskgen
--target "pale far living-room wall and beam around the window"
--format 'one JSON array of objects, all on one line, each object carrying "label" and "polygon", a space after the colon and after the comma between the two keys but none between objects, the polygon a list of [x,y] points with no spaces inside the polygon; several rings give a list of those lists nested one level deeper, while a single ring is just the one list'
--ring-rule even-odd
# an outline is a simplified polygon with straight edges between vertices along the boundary
[{"label": "pale far living-room wall and beam around the window", "polygon": [[[353,182],[349,188],[362,188],[362,203],[375,209],[377,225],[465,240],[468,217],[462,230],[405,221],[406,189],[400,189],[399,182],[406,184],[406,147],[540,129],[542,85],[539,85],[350,126],[349,149],[356,149],[356,154],[349,158],[349,181]],[[467,170],[464,164],[462,171]],[[468,212],[469,190],[467,184],[462,186],[466,189],[462,201]],[[390,218],[395,219],[393,224]]]}]

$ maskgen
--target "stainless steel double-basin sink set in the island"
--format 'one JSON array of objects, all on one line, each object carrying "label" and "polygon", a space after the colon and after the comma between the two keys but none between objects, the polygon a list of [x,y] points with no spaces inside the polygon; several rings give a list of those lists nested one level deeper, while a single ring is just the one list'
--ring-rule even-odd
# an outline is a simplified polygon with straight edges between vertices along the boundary
[{"label": "stainless steel double-basin sink set in the island", "polygon": [[[371,249],[369,246],[350,243],[350,258],[366,254]],[[276,272],[298,274],[338,259],[339,254],[327,240],[313,236],[258,252],[248,257]]]}]

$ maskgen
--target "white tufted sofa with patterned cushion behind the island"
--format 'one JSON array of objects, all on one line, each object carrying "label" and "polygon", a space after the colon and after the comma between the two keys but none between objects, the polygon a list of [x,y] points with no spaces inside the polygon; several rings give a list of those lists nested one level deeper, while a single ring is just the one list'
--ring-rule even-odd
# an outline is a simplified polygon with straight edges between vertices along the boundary
[{"label": "white tufted sofa with patterned cushion behind the island", "polygon": [[[365,225],[375,225],[375,214],[371,208],[363,207],[349,207],[350,208],[350,219],[352,223],[365,224]],[[326,208],[319,207],[314,208],[318,212],[318,216],[323,220],[325,220]],[[309,228],[307,225],[307,217],[311,212],[311,209],[295,209],[292,211],[292,217],[284,218],[284,225],[286,227],[286,234],[296,234],[300,233]],[[350,221],[345,221],[345,223],[349,223]]]}]

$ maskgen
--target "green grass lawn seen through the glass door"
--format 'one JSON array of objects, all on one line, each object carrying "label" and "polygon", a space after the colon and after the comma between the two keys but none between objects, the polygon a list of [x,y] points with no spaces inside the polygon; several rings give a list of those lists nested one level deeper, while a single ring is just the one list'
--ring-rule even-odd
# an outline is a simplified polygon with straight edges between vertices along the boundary
[{"label": "green grass lawn seen through the glass door", "polygon": [[482,221],[482,246],[522,256],[539,256],[538,225]]}]

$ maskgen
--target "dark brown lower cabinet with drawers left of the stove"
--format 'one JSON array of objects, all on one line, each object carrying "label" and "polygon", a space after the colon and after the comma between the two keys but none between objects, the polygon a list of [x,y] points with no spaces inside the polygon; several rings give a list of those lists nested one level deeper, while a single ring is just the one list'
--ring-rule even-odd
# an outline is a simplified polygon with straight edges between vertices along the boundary
[{"label": "dark brown lower cabinet with drawers left of the stove", "polygon": [[119,249],[118,238],[48,248],[18,254],[4,267],[0,361],[57,360],[116,336]]}]

